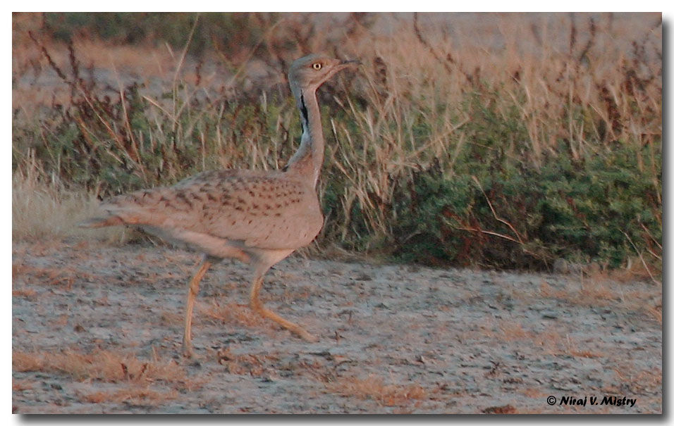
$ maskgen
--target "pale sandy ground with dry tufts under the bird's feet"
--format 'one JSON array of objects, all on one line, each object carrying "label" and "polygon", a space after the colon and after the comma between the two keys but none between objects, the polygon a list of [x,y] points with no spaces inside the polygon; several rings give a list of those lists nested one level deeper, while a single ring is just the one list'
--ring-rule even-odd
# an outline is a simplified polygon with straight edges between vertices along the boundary
[{"label": "pale sandy ground with dry tufts under the bird's feet", "polygon": [[247,266],[223,261],[197,299],[202,359],[185,361],[185,287],[199,259],[15,242],[13,411],[662,411],[652,282],[294,255],[266,275],[262,297],[320,337],[309,344],[253,315]]}]

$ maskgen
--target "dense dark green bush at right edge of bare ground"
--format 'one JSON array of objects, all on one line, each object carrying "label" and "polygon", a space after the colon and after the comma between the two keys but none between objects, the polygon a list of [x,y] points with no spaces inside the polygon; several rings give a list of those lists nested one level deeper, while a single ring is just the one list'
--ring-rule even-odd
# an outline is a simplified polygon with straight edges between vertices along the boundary
[{"label": "dense dark green bush at right edge of bare ground", "polygon": [[[657,252],[659,189],[639,170],[638,154],[624,145],[572,161],[562,151],[541,168],[482,157],[453,175],[436,162],[396,194],[396,253],[431,264],[477,259],[498,268],[544,268],[556,258],[618,267],[634,256],[632,244]],[[661,156],[652,166],[661,173]]]}]

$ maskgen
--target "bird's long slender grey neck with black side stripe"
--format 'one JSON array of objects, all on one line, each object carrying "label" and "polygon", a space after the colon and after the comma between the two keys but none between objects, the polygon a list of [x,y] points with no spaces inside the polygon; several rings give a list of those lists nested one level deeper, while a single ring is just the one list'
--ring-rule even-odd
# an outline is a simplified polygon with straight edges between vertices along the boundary
[{"label": "bird's long slender grey neck with black side stripe", "polygon": [[315,188],[323,165],[325,145],[321,111],[315,89],[297,90],[294,94],[302,121],[302,141],[298,151],[288,161],[286,170],[305,177]]}]

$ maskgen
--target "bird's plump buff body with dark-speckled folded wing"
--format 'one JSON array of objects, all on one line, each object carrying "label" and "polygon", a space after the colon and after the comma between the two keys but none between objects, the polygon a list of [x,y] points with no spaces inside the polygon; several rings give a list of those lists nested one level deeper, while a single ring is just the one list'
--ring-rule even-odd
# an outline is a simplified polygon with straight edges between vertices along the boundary
[{"label": "bird's plump buff body with dark-speckled folded wing", "polygon": [[130,225],[179,235],[198,232],[262,249],[297,249],[312,242],[323,215],[312,188],[284,173],[219,170],[173,187],[117,196],[102,208]]}]

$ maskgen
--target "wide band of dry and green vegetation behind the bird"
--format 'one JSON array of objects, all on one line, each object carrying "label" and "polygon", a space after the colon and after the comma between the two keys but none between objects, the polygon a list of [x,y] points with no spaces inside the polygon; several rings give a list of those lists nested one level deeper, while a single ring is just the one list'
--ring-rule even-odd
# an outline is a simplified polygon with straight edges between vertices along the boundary
[{"label": "wide band of dry and green vegetation behind the bird", "polygon": [[[15,15],[15,236],[68,234],[92,196],[281,167],[298,133],[283,70],[327,50],[364,65],[321,91],[327,218],[314,253],[497,268],[637,259],[660,280],[660,15],[236,16],[255,43],[192,57],[161,38],[62,44],[39,15]],[[343,30],[317,30],[331,19]],[[44,107],[61,112],[23,125]],[[43,144],[63,144],[63,158]],[[82,187],[92,196],[78,200]]]}]

